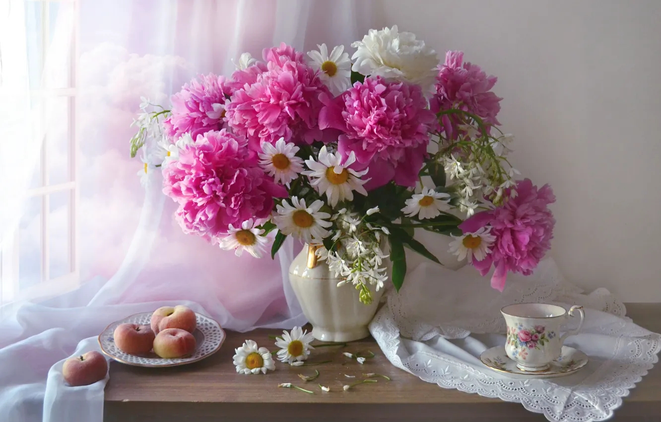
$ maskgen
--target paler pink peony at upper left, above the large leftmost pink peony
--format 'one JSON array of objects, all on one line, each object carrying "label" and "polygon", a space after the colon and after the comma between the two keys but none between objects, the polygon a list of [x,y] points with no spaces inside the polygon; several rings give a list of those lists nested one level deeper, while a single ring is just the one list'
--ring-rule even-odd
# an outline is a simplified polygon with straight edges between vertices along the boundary
[{"label": "paler pink peony at upper left, above the large leftmost pink peony", "polygon": [[209,73],[199,78],[200,81],[193,79],[184,84],[171,98],[172,115],[164,126],[175,141],[186,132],[196,139],[200,134],[225,127],[225,95],[230,93],[225,77]]}]

